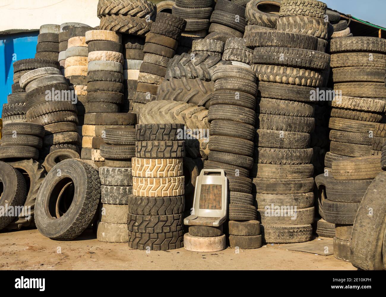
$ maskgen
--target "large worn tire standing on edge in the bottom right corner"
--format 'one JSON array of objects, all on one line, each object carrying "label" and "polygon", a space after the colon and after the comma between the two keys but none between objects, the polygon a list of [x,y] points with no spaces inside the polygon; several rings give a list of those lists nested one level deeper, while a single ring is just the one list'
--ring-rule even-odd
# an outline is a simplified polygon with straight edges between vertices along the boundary
[{"label": "large worn tire standing on edge in the bottom right corner", "polygon": [[[350,261],[362,270],[384,269],[382,245],[386,229],[386,205],[379,199],[379,193],[386,191],[385,177],[386,172],[378,174],[367,189],[352,228]],[[369,210],[372,211],[371,216]]]}]

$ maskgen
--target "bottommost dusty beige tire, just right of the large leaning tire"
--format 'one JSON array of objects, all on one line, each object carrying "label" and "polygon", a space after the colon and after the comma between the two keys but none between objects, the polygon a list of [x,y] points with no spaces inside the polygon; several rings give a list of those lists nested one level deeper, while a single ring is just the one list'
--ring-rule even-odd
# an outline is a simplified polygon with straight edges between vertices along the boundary
[{"label": "bottommost dusty beige tire, just right of the large leaning tire", "polygon": [[127,224],[98,222],[97,239],[103,242],[127,242],[129,241]]}]

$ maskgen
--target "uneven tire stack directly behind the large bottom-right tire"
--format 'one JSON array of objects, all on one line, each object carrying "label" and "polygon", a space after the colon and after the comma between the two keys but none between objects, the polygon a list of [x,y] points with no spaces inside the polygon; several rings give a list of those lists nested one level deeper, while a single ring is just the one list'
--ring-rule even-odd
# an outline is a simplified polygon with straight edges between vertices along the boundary
[{"label": "uneven tire stack directly behind the large bottom-right tire", "polygon": [[381,172],[380,156],[357,157],[335,160],[327,176],[315,178],[319,214],[335,224],[335,258],[350,261],[350,232],[357,210],[372,180]]}]

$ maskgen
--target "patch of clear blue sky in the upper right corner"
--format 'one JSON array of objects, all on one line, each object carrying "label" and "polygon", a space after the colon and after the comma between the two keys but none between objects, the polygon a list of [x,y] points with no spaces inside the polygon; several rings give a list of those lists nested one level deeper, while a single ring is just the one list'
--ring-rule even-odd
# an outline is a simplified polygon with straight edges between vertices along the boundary
[{"label": "patch of clear blue sky in the upper right corner", "polygon": [[386,27],[386,0],[321,0],[329,8]]}]

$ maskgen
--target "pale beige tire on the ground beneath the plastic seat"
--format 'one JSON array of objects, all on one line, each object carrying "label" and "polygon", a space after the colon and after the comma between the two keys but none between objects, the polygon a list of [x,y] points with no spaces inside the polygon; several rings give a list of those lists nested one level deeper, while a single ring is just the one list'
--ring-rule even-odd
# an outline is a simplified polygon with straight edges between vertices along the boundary
[{"label": "pale beige tire on the ground beneath the plastic seat", "polygon": [[209,253],[225,250],[225,247],[225,234],[215,237],[191,236],[189,233],[184,235],[184,248],[188,251]]}]

